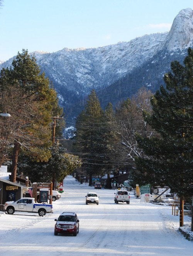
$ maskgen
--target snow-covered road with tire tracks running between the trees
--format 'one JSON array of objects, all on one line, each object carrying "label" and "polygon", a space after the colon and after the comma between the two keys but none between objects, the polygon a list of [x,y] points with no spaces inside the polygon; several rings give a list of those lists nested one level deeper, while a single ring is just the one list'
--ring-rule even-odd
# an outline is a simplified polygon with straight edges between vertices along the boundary
[{"label": "snow-covered road with tire tracks running between the trees", "polygon": [[[95,190],[99,205],[86,205],[90,190],[95,189],[68,176],[61,199],[53,202],[53,214],[0,214],[0,255],[193,255],[193,242],[178,232],[179,216],[171,214],[170,206],[141,203],[132,194],[129,205],[115,204],[114,190],[105,189]],[[77,213],[76,237],[54,236],[54,219],[63,211]]]}]

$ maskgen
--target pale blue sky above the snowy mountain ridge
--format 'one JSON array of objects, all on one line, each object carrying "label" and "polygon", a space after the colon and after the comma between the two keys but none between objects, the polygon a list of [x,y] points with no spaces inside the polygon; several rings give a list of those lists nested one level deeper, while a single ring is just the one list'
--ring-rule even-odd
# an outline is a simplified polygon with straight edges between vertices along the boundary
[{"label": "pale blue sky above the snowy mountain ridge", "polygon": [[169,31],[193,0],[2,0],[0,60],[28,49],[57,52]]}]

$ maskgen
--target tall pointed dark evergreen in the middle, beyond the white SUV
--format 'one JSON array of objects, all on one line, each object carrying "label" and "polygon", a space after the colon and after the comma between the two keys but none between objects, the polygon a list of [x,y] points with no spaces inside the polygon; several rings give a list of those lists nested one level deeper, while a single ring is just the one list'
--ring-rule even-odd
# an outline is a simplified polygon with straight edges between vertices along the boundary
[{"label": "tall pointed dark evergreen in the middle, beyond the white SUV", "polygon": [[104,111],[95,90],[88,96],[85,109],[76,120],[76,137],[74,148],[81,152],[83,168],[89,175],[89,186],[92,185],[92,176],[101,174],[102,164],[102,129]]}]

